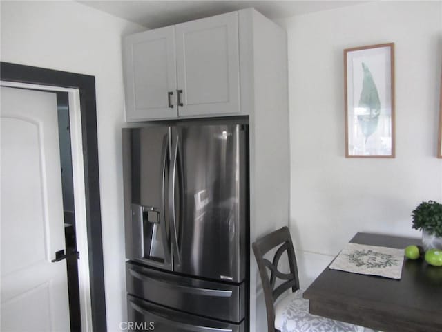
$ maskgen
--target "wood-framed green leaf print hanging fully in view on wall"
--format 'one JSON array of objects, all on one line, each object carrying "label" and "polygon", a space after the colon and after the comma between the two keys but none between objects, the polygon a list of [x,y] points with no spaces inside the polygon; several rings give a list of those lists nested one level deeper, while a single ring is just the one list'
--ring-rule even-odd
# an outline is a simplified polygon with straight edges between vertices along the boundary
[{"label": "wood-framed green leaf print hanging fully in view on wall", "polygon": [[345,157],[394,158],[394,44],[344,50]]}]

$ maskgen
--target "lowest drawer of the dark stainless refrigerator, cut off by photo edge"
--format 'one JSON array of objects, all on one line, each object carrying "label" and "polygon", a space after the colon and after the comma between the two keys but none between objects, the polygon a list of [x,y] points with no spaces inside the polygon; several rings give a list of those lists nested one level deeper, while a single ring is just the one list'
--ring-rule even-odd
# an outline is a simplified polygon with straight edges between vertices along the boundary
[{"label": "lowest drawer of the dark stainless refrigerator, cut off by photo edge", "polygon": [[133,331],[245,332],[244,321],[232,324],[190,315],[127,295],[128,324]]}]

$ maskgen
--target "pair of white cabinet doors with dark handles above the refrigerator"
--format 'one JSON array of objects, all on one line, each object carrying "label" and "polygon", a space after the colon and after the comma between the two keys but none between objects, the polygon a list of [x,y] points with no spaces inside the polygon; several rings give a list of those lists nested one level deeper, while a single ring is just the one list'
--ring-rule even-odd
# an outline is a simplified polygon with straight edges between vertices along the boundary
[{"label": "pair of white cabinet doors with dark handles above the refrigerator", "polygon": [[238,48],[238,12],[125,37],[126,121],[240,115]]}]

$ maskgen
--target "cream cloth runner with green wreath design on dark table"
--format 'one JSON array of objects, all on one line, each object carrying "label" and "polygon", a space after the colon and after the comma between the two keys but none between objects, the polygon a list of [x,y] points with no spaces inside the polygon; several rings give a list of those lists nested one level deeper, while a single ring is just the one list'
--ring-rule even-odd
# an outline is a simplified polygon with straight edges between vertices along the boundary
[{"label": "cream cloth runner with green wreath design on dark table", "polygon": [[401,279],[403,249],[347,243],[330,264],[332,270]]}]

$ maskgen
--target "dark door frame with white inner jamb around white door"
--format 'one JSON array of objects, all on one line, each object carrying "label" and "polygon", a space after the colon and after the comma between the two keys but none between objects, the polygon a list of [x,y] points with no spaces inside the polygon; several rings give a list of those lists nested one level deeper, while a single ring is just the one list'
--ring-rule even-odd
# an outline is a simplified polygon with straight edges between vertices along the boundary
[{"label": "dark door frame with white inner jamb around white door", "polygon": [[[73,226],[68,228],[72,227],[72,232],[77,234],[75,251],[81,252],[77,265],[81,326],[78,330],[74,326],[73,331],[106,331],[95,77],[0,62],[0,80],[8,82],[11,87],[23,88],[20,84],[26,84],[26,89],[33,86],[37,90],[61,92],[61,99],[66,101],[67,96],[68,109],[75,110],[68,120],[72,134],[70,151],[75,214],[65,214],[68,224],[74,218]],[[69,211],[66,208],[66,212]],[[66,249],[73,250],[72,246]],[[77,261],[75,255],[73,260]]]}]

